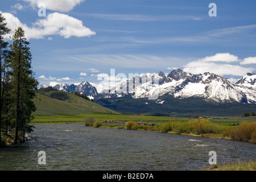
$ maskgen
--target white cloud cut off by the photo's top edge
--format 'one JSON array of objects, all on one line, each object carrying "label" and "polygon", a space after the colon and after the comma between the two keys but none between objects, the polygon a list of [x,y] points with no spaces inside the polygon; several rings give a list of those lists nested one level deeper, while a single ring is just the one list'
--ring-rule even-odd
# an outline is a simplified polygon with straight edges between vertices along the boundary
[{"label": "white cloud cut off by the photo's top edge", "polygon": [[46,9],[53,11],[71,11],[76,5],[79,5],[84,0],[23,0],[29,2],[32,7],[38,7],[40,3],[46,5]]}]

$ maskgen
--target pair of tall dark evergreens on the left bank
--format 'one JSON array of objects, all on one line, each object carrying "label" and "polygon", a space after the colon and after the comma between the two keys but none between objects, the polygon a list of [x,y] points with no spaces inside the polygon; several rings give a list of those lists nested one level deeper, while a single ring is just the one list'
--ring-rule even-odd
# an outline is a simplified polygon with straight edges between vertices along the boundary
[{"label": "pair of tall dark evergreens on the left bank", "polygon": [[36,106],[32,99],[38,81],[31,67],[31,52],[21,27],[15,29],[11,42],[3,36],[10,33],[0,14],[0,147],[2,135],[14,138],[14,144],[25,140]]}]

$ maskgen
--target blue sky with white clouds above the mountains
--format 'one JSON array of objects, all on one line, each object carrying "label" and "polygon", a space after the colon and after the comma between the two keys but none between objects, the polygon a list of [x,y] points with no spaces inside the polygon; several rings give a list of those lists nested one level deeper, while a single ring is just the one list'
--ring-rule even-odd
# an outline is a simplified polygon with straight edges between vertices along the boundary
[{"label": "blue sky with white clouds above the mountains", "polygon": [[[39,16],[40,3],[46,16]],[[217,16],[209,16],[210,3]],[[99,75],[256,70],[253,0],[0,0],[12,30],[22,26],[40,85],[98,84]],[[43,11],[42,11],[43,12]]]}]

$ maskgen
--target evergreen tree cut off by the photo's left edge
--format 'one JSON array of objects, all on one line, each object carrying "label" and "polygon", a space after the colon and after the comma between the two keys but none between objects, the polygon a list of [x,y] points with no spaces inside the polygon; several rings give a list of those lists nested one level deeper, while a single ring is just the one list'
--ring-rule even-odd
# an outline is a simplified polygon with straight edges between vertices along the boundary
[{"label": "evergreen tree cut off by the photo's left edge", "polygon": [[5,69],[2,71],[2,60],[6,59],[6,51],[8,43],[3,39],[3,35],[8,34],[11,30],[6,27],[4,22],[5,18],[0,14],[0,147],[2,146],[2,108],[3,108],[3,92],[2,88],[4,86],[2,84],[2,72],[5,72]]}]

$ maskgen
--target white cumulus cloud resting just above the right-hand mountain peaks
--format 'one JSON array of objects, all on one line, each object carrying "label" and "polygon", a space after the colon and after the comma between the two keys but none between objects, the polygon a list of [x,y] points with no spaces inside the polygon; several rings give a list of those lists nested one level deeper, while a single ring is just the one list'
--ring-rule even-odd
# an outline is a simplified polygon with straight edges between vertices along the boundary
[{"label": "white cumulus cloud resting just above the right-hand mountain peaks", "polygon": [[204,72],[215,73],[217,75],[243,76],[247,72],[253,72],[254,68],[241,67],[241,65],[227,64],[241,61],[237,56],[230,53],[217,53],[214,56],[204,57],[191,61],[184,66],[184,71],[199,74]]}]

